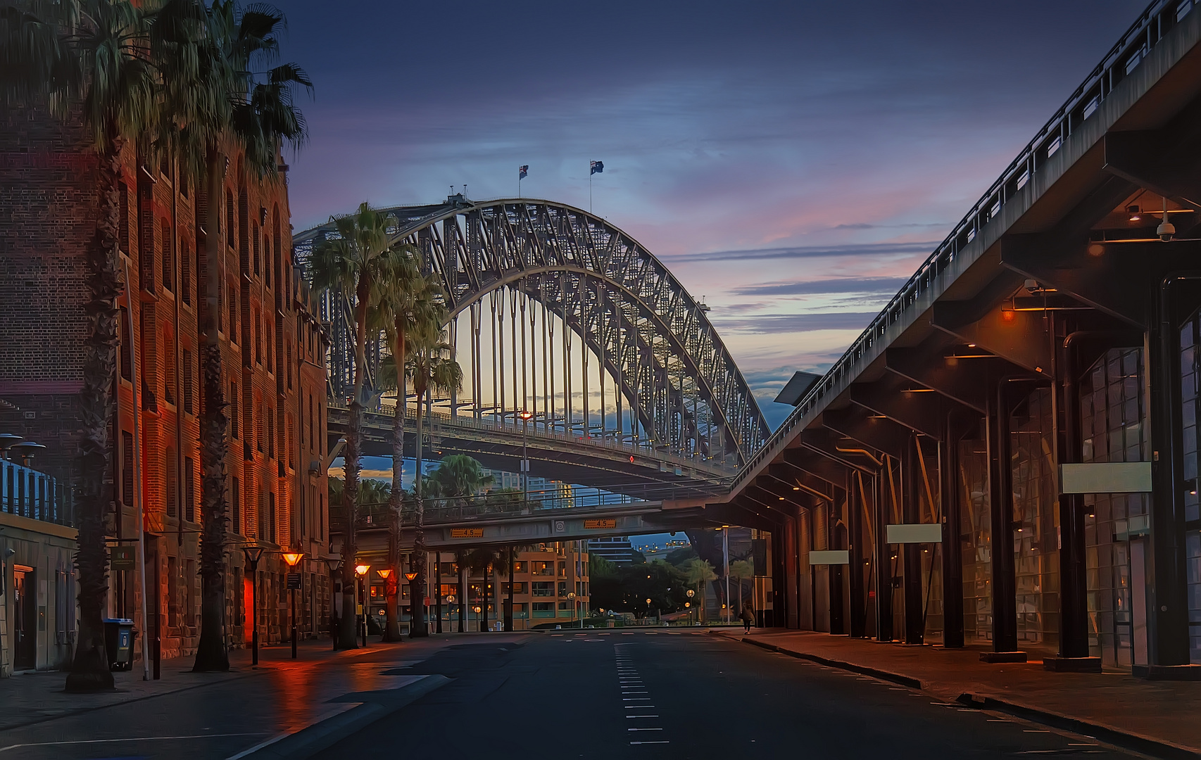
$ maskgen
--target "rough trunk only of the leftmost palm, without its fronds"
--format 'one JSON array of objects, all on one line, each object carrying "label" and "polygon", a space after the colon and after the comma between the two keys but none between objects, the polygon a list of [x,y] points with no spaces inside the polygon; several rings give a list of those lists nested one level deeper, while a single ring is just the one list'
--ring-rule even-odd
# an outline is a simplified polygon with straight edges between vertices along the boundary
[{"label": "rough trunk only of the leftmost palm, without its fronds", "polygon": [[[76,553],[76,567],[79,569],[79,640],[66,681],[66,690],[76,693],[113,689],[103,622],[108,597],[104,523],[113,499],[112,492],[104,487],[104,477],[108,474],[112,450],[109,425],[116,411],[112,391],[116,377],[116,298],[121,293],[116,237],[120,152],[121,140],[113,140],[100,154],[100,208],[96,234],[86,252],[86,312],[91,322],[91,335],[84,342],[83,389],[79,393],[79,411],[83,415],[77,511],[79,532],[76,539],[79,547]],[[136,283],[126,283],[126,287],[135,292],[137,289]],[[135,409],[135,414],[139,412]],[[147,647],[143,646],[142,651],[145,657]]]}]

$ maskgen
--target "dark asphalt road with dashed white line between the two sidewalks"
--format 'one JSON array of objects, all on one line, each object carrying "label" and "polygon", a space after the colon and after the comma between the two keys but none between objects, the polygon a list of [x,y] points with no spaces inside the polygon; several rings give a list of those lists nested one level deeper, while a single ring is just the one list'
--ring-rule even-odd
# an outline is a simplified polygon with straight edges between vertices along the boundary
[{"label": "dark asphalt road with dashed white line between the two sidewalks", "polygon": [[317,756],[1140,756],[699,633],[486,639],[405,669],[453,681]]}]

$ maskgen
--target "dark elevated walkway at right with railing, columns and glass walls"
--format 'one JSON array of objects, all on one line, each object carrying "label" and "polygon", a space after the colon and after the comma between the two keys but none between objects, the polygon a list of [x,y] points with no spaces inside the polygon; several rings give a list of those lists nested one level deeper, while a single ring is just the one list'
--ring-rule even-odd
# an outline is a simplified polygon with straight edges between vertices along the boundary
[{"label": "dark elevated walkway at right with railing, columns and glass walls", "polygon": [[1199,40],[1153,4],[735,479],[789,626],[1197,677]]}]

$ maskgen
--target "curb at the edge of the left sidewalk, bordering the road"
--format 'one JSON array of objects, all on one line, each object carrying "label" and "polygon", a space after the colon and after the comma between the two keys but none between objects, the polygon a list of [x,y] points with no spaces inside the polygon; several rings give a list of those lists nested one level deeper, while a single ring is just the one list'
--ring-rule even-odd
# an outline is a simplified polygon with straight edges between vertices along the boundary
[{"label": "curb at the edge of the left sidewalk, bordering the road", "polygon": [[299,731],[280,734],[226,760],[304,760],[333,747],[347,736],[410,705],[438,687],[450,683],[446,676],[425,676],[420,681],[390,689],[387,701],[369,701],[349,710],[335,710]]}]

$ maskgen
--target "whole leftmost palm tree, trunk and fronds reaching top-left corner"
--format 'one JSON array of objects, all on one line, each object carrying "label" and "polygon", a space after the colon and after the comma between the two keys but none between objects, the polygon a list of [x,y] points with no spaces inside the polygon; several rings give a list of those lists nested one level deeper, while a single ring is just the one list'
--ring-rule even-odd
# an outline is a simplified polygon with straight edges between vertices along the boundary
[{"label": "whole leftmost palm tree, trunk and fronds reaching top-left corner", "polygon": [[49,107],[82,121],[97,156],[100,207],[86,247],[86,305],[79,441],[78,551],[79,640],[67,692],[113,688],[104,648],[108,591],[104,487],[110,461],[109,424],[116,371],[118,306],[125,283],[119,269],[118,181],[127,143],[156,128],[157,76],[147,50],[148,14],[124,0],[28,0],[0,7],[0,98],[6,107]]}]

